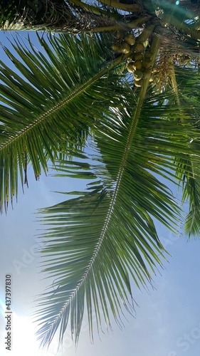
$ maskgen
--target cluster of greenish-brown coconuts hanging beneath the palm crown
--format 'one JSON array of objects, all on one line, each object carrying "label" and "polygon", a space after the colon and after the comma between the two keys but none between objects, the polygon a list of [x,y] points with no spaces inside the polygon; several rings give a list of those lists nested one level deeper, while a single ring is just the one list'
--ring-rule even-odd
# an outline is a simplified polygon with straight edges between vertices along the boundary
[{"label": "cluster of greenish-brown coconuts hanging beneath the palm crown", "polygon": [[[118,34],[120,37],[120,35]],[[135,85],[142,86],[142,80],[149,77],[149,81],[154,80],[156,70],[152,68],[152,53],[147,49],[148,41],[140,41],[140,36],[135,37],[133,33],[117,38],[117,43],[112,49],[117,53],[130,53],[127,58],[127,70],[133,74]]]}]

